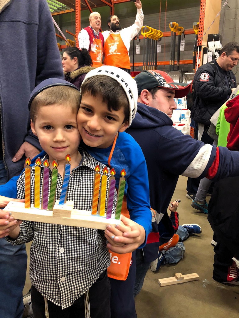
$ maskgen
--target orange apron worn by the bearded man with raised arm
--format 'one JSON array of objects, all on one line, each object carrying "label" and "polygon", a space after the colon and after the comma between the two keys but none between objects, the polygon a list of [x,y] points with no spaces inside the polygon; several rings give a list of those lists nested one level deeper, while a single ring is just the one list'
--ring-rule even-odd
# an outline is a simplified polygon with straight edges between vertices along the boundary
[{"label": "orange apron worn by the bearded man with raised arm", "polygon": [[120,34],[110,34],[104,45],[104,64],[130,69],[129,53]]}]

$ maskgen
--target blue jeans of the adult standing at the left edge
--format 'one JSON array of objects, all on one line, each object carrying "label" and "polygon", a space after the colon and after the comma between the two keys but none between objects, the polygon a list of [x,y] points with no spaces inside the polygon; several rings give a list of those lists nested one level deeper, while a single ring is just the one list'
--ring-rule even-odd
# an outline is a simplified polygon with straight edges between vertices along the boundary
[{"label": "blue jeans of the adult standing at the left edge", "polygon": [[[0,160],[0,184],[6,182],[7,171]],[[5,238],[0,239],[0,317],[22,317],[26,262],[25,245],[11,245]]]}]

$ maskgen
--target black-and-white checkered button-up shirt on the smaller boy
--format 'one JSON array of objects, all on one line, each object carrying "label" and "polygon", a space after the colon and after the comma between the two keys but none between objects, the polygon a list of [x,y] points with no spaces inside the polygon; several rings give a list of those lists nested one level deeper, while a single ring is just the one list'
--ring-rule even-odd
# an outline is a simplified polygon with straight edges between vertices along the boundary
[{"label": "black-and-white checkered button-up shirt on the smaller boy", "polygon": [[[99,165],[99,173],[102,175],[105,166],[85,150],[80,151],[82,161],[71,172],[67,200],[74,201],[75,209],[90,211],[94,168]],[[47,155],[41,160],[42,163],[46,158]],[[34,167],[35,165],[32,167],[31,203],[34,193]],[[41,181],[42,177],[43,169]],[[50,180],[51,171],[49,184]],[[24,181],[25,172],[17,182],[19,199],[25,196]],[[60,197],[61,187],[62,177],[58,174],[56,198]],[[32,284],[43,296],[62,309],[71,306],[110,265],[104,231],[97,229],[23,221],[18,239],[8,240],[12,244],[33,240],[30,250]]]}]

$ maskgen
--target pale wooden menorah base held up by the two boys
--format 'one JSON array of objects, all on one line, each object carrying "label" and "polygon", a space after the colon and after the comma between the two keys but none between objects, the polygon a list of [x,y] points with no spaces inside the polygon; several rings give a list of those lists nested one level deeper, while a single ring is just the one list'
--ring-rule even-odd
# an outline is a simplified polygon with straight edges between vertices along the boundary
[{"label": "pale wooden menorah base held up by the two boys", "polygon": [[59,205],[56,201],[53,211],[40,210],[33,207],[25,209],[24,202],[10,201],[4,210],[11,212],[12,216],[18,220],[61,224],[69,226],[88,227],[91,229],[105,230],[106,225],[120,224],[120,220],[114,218],[104,218],[98,215],[91,215],[91,211],[73,209],[74,203],[67,201]]}]

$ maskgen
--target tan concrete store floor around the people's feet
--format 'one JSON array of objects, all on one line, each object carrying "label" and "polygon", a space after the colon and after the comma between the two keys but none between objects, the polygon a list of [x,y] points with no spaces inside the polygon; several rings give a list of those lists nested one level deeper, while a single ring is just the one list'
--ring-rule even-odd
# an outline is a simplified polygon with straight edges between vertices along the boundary
[{"label": "tan concrete store floor around the people's feet", "polygon": [[[149,269],[143,288],[135,298],[138,318],[191,318],[197,315],[199,318],[238,318],[239,286],[225,286],[212,279],[213,232],[206,214],[194,210],[190,205],[191,200],[185,197],[186,182],[187,178],[180,176],[172,198],[181,200],[177,210],[179,225],[197,223],[201,226],[202,233],[193,234],[184,241],[185,255],[178,264],[162,266],[158,273]],[[159,286],[158,279],[174,276],[175,273],[197,273],[200,279],[178,285]],[[24,293],[30,287],[27,271]]]}]

